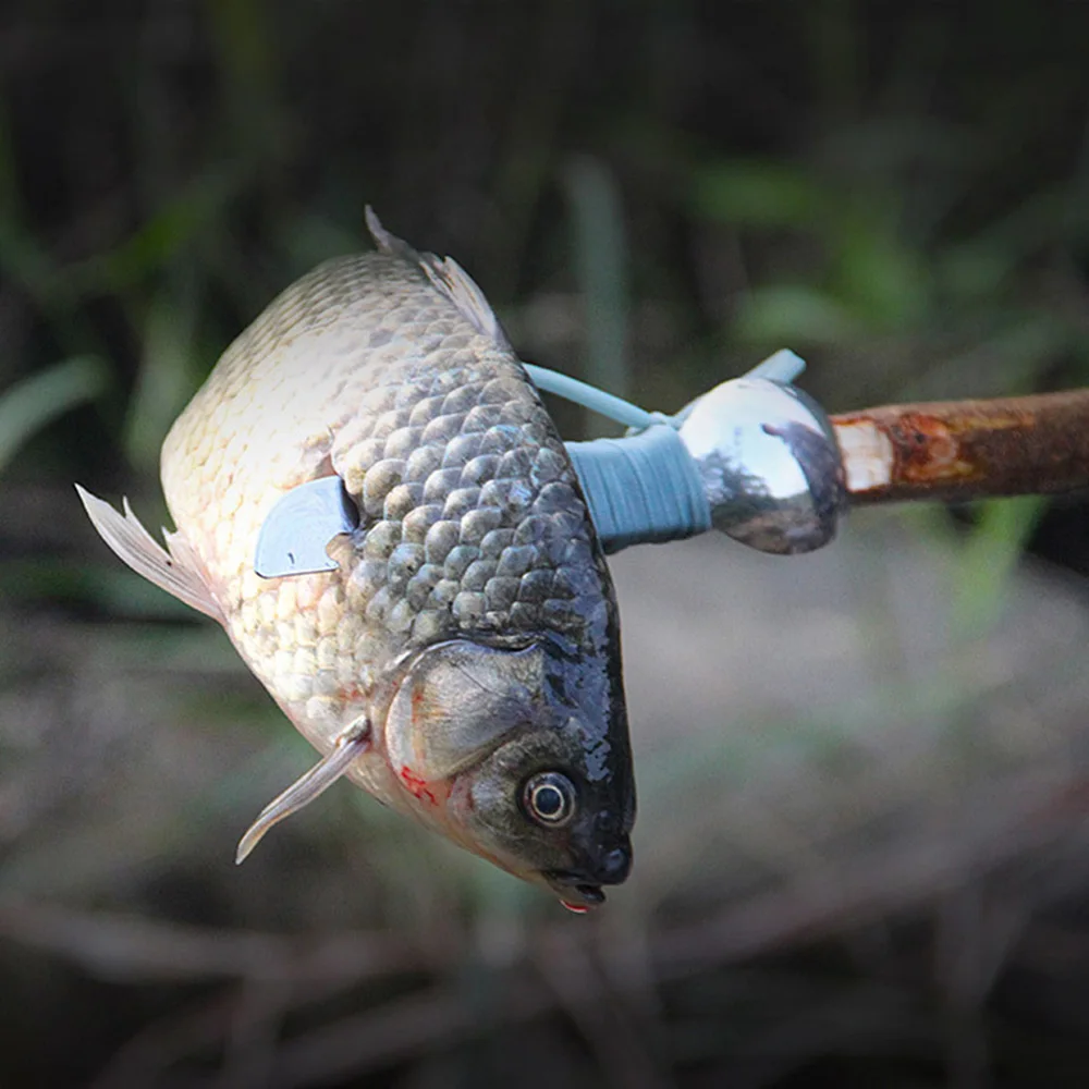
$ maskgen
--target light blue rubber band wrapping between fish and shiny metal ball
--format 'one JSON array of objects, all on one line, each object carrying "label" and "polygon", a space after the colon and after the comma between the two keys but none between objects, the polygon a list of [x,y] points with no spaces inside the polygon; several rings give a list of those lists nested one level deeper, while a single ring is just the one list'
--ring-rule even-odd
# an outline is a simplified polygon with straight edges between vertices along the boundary
[{"label": "light blue rubber band wrapping between fish and shiny metal ball", "polygon": [[695,537],[711,528],[696,464],[665,424],[625,439],[568,442],[605,552]]}]

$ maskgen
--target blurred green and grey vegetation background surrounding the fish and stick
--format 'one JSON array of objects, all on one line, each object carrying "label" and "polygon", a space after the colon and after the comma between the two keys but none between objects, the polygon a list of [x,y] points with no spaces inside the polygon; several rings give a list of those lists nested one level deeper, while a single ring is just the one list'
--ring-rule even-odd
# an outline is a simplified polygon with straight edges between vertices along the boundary
[{"label": "blurred green and grey vegetation background surrounding the fish and stick", "polygon": [[620,558],[638,869],[575,919],[346,786],[235,870],[307,746],[72,490],[164,522],[170,423],[365,203],[650,408],[784,345],[832,411],[1089,384],[1087,48],[1080,0],[8,0],[0,1086],[1089,1084],[1084,506]]}]

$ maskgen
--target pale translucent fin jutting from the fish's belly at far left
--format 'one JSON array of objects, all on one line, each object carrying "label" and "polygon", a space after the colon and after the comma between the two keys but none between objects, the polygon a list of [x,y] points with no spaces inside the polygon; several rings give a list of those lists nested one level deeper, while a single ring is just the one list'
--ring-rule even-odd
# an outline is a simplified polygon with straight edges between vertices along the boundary
[{"label": "pale translucent fin jutting from the fish's belly at far left", "polygon": [[223,613],[200,575],[193,549],[181,534],[166,534],[168,552],[133,514],[127,499],[122,501],[122,515],[79,485],[75,490],[99,536],[137,575],[223,623]]}]

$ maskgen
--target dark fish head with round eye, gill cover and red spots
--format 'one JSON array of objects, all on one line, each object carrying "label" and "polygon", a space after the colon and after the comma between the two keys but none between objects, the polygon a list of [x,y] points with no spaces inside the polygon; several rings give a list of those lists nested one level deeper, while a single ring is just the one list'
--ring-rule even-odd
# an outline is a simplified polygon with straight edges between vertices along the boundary
[{"label": "dark fish head with round eye, gill cover and red spots", "polygon": [[397,685],[384,745],[417,816],[567,907],[626,879],[635,783],[615,658],[551,636],[436,644]]}]

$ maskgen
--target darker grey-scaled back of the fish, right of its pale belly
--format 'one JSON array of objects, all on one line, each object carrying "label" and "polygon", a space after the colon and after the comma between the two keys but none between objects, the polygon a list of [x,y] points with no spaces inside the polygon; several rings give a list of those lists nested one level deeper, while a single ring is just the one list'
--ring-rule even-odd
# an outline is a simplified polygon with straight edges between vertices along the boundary
[{"label": "darker grey-scaled back of the fish, right of its pale belly", "polygon": [[600,648],[614,626],[608,570],[509,345],[400,257],[348,258],[325,276],[382,285],[368,381],[332,446],[362,515],[350,585],[367,621],[409,644],[549,631]]}]

